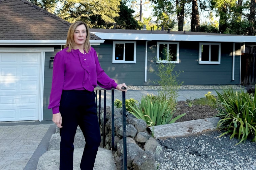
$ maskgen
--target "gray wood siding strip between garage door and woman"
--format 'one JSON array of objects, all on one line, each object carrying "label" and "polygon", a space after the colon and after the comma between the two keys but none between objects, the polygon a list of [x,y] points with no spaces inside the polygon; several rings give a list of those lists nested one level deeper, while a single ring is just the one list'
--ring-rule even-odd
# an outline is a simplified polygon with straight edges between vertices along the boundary
[{"label": "gray wood siding strip between garage door and woman", "polygon": [[61,46],[54,48],[54,52],[45,52],[44,60],[44,84],[43,84],[43,120],[52,120],[52,109],[48,109],[52,89],[53,68],[49,68],[50,59],[61,50]]}]

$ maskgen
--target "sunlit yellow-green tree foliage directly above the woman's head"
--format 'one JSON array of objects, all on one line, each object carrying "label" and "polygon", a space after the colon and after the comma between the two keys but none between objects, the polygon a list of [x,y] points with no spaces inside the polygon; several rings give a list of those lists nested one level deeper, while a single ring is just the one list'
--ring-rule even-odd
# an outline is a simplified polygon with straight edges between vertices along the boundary
[{"label": "sunlit yellow-green tree foliage directly above the woman's head", "polygon": [[73,23],[85,21],[90,28],[113,26],[119,14],[120,0],[60,0],[58,16]]}]

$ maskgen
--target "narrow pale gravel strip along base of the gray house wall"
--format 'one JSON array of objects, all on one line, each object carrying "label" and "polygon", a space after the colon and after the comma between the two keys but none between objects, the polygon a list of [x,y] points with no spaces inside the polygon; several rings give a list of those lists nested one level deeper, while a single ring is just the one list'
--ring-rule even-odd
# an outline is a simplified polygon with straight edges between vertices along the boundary
[{"label": "narrow pale gravel strip along base of the gray house wall", "polygon": [[[182,85],[180,90],[240,89],[240,85]],[[162,86],[127,86],[128,90],[161,90]]]}]

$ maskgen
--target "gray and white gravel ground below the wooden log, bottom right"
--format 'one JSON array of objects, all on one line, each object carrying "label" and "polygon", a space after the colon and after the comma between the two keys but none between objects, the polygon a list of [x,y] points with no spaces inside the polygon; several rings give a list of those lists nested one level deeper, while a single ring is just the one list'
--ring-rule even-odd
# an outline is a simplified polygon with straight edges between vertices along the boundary
[{"label": "gray and white gravel ground below the wooden log, bottom right", "polygon": [[256,143],[238,143],[213,131],[198,136],[159,140],[165,153],[159,170],[255,170]]}]

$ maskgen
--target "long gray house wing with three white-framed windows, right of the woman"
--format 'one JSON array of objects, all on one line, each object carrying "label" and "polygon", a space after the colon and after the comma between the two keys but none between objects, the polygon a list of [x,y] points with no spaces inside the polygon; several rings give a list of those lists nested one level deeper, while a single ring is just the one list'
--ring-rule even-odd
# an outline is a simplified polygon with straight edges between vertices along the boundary
[{"label": "long gray house wing with three white-framed windows, right of the woman", "polygon": [[241,70],[247,69],[241,64],[245,58],[242,54],[250,53],[256,42],[255,36],[186,31],[90,32],[105,40],[96,47],[105,72],[118,82],[136,86],[150,85],[150,80],[159,78],[151,70],[157,71],[157,60],[166,60],[164,47],[173,54],[174,70],[184,71],[178,80],[185,85],[241,84]]}]

